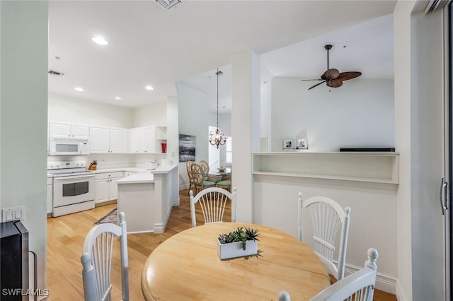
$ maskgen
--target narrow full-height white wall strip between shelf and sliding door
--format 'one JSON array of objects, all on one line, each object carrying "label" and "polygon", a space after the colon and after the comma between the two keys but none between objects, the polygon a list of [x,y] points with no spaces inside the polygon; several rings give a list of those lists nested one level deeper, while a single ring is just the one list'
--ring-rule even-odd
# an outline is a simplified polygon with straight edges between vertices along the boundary
[{"label": "narrow full-height white wall strip between shelf and sliding door", "polygon": [[415,1],[398,1],[394,10],[396,150],[398,187],[398,300],[413,300],[411,240],[411,11]]}]

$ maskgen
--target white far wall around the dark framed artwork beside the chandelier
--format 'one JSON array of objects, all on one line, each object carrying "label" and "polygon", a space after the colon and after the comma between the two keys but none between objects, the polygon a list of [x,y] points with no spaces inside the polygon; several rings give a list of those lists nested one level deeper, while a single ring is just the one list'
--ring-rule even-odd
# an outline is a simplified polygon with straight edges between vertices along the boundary
[{"label": "white far wall around the dark framed artwork beside the chandelier", "polygon": [[[207,160],[209,144],[207,126],[210,120],[207,95],[181,83],[176,83],[176,89],[178,91],[179,134],[195,136],[195,160]],[[185,162],[179,163],[179,185],[181,188],[188,188]]]}]

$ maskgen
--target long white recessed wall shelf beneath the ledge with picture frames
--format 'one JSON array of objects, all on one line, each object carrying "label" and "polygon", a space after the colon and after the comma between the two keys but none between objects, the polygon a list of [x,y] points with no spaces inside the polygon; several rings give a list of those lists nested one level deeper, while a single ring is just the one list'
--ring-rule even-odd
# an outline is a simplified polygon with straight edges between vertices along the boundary
[{"label": "long white recessed wall shelf beneath the ledge with picture frames", "polygon": [[399,153],[253,153],[253,174],[398,184]]}]

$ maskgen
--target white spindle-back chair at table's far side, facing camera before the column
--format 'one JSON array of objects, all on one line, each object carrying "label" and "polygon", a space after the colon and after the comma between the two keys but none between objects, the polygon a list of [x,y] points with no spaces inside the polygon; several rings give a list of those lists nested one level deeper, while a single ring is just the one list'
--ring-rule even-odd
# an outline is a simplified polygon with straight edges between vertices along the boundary
[{"label": "white spindle-back chair at table's far side, facing camera before the column", "polygon": [[203,189],[196,196],[193,196],[193,191],[190,190],[189,195],[192,227],[197,226],[196,203],[200,204],[205,224],[207,224],[221,223],[224,218],[226,202],[231,201],[231,221],[236,221],[236,187],[234,187],[232,193],[223,188],[211,187]]}]

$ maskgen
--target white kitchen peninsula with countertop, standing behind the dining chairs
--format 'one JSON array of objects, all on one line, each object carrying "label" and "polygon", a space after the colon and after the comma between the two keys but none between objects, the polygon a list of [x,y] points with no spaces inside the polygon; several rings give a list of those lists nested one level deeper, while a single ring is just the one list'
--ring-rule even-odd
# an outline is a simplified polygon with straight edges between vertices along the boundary
[{"label": "white kitchen peninsula with countertop, standing behind the dining chairs", "polygon": [[124,212],[128,233],[162,233],[171,207],[179,206],[178,168],[168,165],[117,181],[118,212]]}]

